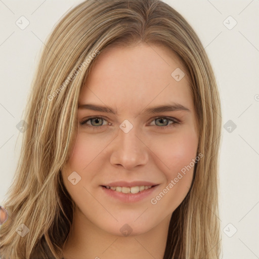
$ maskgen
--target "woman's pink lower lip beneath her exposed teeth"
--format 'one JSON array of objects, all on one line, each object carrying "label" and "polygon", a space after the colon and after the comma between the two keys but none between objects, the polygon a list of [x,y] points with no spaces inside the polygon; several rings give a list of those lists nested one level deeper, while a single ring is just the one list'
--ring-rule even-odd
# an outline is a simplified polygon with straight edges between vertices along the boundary
[{"label": "woman's pink lower lip beneath her exposed teeth", "polygon": [[125,203],[131,203],[131,202],[138,202],[147,198],[157,189],[158,185],[138,193],[122,193],[122,192],[113,191],[111,189],[107,189],[103,186],[101,187],[104,193],[109,195],[110,197],[118,199]]}]

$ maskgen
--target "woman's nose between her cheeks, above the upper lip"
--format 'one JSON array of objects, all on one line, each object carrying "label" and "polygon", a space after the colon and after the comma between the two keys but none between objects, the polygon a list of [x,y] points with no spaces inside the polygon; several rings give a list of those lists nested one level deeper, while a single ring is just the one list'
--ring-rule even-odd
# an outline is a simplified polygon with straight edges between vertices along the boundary
[{"label": "woman's nose between her cheeks, above the upper lip", "polygon": [[123,166],[126,170],[132,170],[136,166],[145,165],[148,162],[148,147],[137,132],[137,127],[133,127],[128,133],[120,128],[118,136],[111,143],[112,149],[110,163],[114,166]]}]

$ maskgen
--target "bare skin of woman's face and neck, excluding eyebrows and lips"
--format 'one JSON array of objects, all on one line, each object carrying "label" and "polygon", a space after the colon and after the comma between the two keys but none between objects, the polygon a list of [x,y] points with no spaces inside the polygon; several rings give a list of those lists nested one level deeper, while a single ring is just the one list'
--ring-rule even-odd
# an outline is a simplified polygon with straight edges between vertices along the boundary
[{"label": "bare skin of woman's face and neck, excluding eyebrows and lips", "polygon": [[[98,56],[78,104],[108,106],[117,113],[78,108],[79,122],[90,116],[104,120],[88,120],[92,128],[78,123],[73,152],[62,170],[65,187],[77,205],[64,245],[66,259],[163,258],[171,214],[190,189],[194,166],[156,204],[151,198],[195,159],[198,147],[187,72],[176,81],[171,76],[176,68],[186,71],[163,46],[109,47]],[[189,111],[141,113],[171,102]],[[163,121],[164,116],[172,120]],[[125,119],[133,125],[128,133],[119,127]],[[171,124],[174,119],[180,124]],[[76,185],[68,181],[73,171],[81,177]],[[150,181],[159,186],[141,201],[124,203],[100,186],[114,181]],[[128,236],[120,231],[124,224],[132,229]]]}]

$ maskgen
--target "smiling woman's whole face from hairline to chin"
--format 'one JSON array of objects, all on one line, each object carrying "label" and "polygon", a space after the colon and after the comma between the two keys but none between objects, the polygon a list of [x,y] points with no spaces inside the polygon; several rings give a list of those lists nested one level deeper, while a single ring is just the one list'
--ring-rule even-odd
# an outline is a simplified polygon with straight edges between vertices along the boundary
[{"label": "smiling woman's whole face from hairline to chin", "polygon": [[180,60],[153,45],[100,54],[80,93],[76,134],[62,177],[85,222],[119,236],[153,229],[186,197],[198,147]]}]

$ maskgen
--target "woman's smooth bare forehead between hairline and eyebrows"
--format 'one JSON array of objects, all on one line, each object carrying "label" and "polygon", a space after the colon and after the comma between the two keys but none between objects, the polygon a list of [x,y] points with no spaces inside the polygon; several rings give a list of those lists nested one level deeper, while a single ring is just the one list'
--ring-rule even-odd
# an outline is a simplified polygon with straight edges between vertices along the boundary
[{"label": "woman's smooth bare forehead between hairline and eyebrows", "polygon": [[[181,69],[177,81],[172,73]],[[181,103],[193,109],[187,71],[177,55],[164,46],[141,44],[108,47],[82,88],[79,103],[98,103],[115,109],[141,109],[148,104]]]}]

